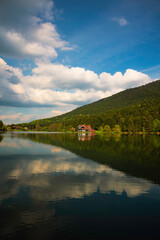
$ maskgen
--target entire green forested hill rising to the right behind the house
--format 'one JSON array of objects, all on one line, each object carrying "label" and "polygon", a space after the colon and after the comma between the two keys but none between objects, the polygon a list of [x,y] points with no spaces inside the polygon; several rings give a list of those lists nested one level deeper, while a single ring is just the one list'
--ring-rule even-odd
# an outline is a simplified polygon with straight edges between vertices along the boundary
[{"label": "entire green forested hill rising to the right behind the house", "polygon": [[[99,129],[105,125],[122,131],[160,131],[160,80],[125,90],[111,97],[79,107],[66,114],[19,124],[32,130],[66,131],[79,124]],[[155,121],[156,120],[156,121]]]}]

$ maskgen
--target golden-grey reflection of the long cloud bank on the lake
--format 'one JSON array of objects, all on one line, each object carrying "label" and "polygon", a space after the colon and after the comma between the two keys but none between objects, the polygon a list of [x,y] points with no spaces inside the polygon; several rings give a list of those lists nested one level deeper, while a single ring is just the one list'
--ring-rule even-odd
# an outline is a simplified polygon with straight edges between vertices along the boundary
[{"label": "golden-grey reflection of the long cloud bank on the lake", "polygon": [[[96,192],[97,189],[102,193],[115,191],[117,194],[122,194],[125,191],[128,197],[135,197],[146,193],[152,185],[143,179],[127,177],[109,167],[90,161],[82,162],[76,158],[67,162],[63,158],[45,159],[45,161],[37,159],[29,163],[27,160],[20,160],[17,163],[14,161],[12,167],[5,174],[2,169],[1,200],[18,194],[20,186],[29,187],[34,199],[38,197],[41,200],[51,201],[82,198]],[[6,189],[9,180],[14,180],[12,188],[8,186]],[[3,194],[3,186],[5,186],[5,194]]]}]

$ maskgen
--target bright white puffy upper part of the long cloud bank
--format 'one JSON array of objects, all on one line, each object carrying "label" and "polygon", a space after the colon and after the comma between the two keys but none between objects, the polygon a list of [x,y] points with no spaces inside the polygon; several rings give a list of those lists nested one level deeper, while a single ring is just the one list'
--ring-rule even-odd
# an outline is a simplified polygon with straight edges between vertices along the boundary
[{"label": "bright white puffy upper part of the long cloud bank", "polygon": [[38,63],[32,72],[33,75],[27,77],[28,83],[39,89],[98,89],[113,92],[113,89],[126,89],[150,81],[148,75],[132,69],[126,70],[124,75],[121,72],[114,75],[103,72],[98,76],[95,72],[80,67]]}]

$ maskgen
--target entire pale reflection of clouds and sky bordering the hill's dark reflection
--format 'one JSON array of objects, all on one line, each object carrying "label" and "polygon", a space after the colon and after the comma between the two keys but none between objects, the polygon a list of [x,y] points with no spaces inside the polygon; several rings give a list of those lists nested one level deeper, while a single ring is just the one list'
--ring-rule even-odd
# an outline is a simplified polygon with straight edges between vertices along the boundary
[{"label": "entire pale reflection of clouds and sky bordering the hill's dark reflection", "polygon": [[[1,161],[1,201],[18,194],[20,186],[29,187],[32,199],[41,201],[83,198],[97,189],[101,193],[126,192],[128,197],[136,197],[148,192],[152,186],[148,181],[129,177],[56,146],[38,145],[44,155],[38,158],[35,155],[38,152],[37,143],[27,139],[15,140],[6,138],[0,145],[12,150],[8,151],[9,158]],[[13,161],[10,154],[15,153],[15,149],[17,152],[23,150],[23,153],[29,149],[29,156],[16,156]],[[11,181],[12,187],[7,184],[8,181]]]}]

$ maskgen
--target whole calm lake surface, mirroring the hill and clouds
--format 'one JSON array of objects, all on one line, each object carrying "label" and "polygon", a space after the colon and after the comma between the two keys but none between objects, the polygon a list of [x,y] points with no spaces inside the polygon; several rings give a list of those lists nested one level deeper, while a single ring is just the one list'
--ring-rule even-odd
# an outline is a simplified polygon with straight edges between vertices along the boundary
[{"label": "whole calm lake surface, mirroring the hill and clouds", "polygon": [[159,239],[160,137],[0,136],[0,239]]}]

